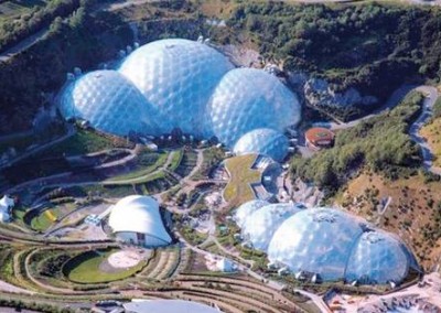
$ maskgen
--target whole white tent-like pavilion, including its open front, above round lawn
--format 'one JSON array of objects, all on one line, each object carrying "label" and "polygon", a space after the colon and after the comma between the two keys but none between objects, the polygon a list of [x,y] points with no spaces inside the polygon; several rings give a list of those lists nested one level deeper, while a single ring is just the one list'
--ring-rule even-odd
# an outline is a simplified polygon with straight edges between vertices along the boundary
[{"label": "whole white tent-like pavilion, including its open front, above round lawn", "polygon": [[110,212],[109,226],[118,240],[132,245],[154,248],[172,241],[159,204],[150,196],[131,195],[120,199]]}]

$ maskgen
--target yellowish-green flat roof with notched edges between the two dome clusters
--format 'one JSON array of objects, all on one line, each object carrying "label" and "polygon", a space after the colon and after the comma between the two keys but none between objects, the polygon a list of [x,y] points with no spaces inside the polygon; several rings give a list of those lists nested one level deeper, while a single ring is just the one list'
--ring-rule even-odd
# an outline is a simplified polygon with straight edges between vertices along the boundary
[{"label": "yellowish-green flat roof with notched edges between the two dome clusters", "polygon": [[257,170],[251,170],[256,158],[256,154],[247,154],[225,161],[225,168],[230,179],[225,187],[224,197],[232,205],[240,205],[255,198],[250,184],[258,183],[261,180],[261,173]]}]

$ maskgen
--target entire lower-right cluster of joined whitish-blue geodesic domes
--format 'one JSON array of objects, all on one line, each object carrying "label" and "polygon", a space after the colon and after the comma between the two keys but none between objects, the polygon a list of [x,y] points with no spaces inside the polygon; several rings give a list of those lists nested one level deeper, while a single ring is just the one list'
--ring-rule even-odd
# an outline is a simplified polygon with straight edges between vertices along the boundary
[{"label": "entire lower-right cluster of joined whitish-blue geodesic domes", "polygon": [[419,269],[400,239],[337,209],[251,201],[236,211],[235,220],[248,245],[294,274],[385,284]]}]

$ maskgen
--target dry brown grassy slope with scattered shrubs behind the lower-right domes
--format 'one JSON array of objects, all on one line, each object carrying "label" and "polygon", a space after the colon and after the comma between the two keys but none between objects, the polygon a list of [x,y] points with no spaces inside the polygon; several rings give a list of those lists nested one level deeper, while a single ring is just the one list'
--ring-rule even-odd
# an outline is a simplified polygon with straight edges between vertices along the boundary
[{"label": "dry brown grassy slope with scattered shrubs behind the lower-right domes", "polygon": [[[380,228],[399,234],[412,248],[420,265],[431,266],[441,252],[441,237],[433,236],[431,240],[431,234],[437,234],[439,229],[437,212],[441,207],[440,188],[441,182],[427,182],[421,173],[396,181],[363,173],[349,181],[331,203]],[[390,203],[387,209],[379,214],[377,205],[388,197]]]}]

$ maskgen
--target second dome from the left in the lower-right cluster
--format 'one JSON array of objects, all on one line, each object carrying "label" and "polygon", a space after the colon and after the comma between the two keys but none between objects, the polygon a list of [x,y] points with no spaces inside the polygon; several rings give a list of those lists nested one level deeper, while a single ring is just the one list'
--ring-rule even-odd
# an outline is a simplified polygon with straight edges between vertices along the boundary
[{"label": "second dome from the left in the lower-right cluster", "polygon": [[300,211],[301,208],[290,203],[262,206],[247,216],[241,227],[241,236],[252,248],[266,251],[279,226]]}]

